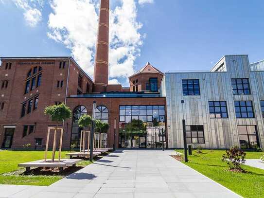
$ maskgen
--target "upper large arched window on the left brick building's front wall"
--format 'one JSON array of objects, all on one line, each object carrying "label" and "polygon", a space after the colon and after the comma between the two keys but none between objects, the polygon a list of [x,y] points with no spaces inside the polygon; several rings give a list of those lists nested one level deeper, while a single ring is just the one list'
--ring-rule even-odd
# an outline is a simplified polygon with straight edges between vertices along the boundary
[{"label": "upper large arched window on the left brick building's front wall", "polygon": [[[32,72],[33,70],[33,72]],[[34,90],[41,84],[42,77],[42,67],[36,66],[27,73],[25,93],[28,93],[31,90]]]}]

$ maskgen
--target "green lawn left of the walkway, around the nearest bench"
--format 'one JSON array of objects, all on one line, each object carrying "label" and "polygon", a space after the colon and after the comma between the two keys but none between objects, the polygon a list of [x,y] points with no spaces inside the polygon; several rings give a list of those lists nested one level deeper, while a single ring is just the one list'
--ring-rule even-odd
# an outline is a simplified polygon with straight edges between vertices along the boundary
[{"label": "green lawn left of the walkway, around the nearest bench", "polygon": [[[69,151],[62,152],[62,158],[67,158],[66,153]],[[47,157],[51,159],[51,156],[52,151],[49,151]],[[56,158],[58,158],[58,152],[56,152]],[[18,163],[41,159],[44,159],[44,151],[0,151],[0,184],[48,186],[90,163],[89,161],[79,162],[76,168],[71,167],[69,171],[65,170],[62,173],[35,171],[30,175],[24,174],[25,168],[18,167]]]}]

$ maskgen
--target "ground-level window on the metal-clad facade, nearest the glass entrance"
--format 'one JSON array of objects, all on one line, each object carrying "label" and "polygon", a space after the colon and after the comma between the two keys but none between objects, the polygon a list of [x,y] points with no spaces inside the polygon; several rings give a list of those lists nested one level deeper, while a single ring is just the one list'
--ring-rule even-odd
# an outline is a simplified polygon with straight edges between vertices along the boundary
[{"label": "ground-level window on the metal-clad facade, nearest the glass entrance", "polygon": [[205,144],[204,126],[189,125],[186,126],[187,144]]}]

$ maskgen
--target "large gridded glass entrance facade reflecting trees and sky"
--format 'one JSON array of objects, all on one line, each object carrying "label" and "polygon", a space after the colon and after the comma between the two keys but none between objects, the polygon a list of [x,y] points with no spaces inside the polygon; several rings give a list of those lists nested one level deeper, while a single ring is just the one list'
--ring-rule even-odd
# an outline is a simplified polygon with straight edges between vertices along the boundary
[{"label": "large gridded glass entrance facade reflecting trees and sky", "polygon": [[165,106],[120,106],[120,148],[166,146]]}]

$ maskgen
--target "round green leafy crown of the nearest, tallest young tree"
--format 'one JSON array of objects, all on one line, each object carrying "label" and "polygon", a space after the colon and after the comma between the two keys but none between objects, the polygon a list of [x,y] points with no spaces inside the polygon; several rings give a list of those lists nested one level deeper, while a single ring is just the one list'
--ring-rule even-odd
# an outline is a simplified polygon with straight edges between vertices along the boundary
[{"label": "round green leafy crown of the nearest, tallest young tree", "polygon": [[50,115],[51,120],[55,122],[62,122],[71,116],[70,108],[64,103],[48,106],[45,108],[44,113]]}]

